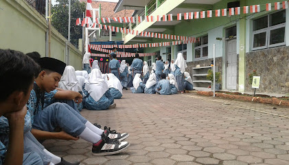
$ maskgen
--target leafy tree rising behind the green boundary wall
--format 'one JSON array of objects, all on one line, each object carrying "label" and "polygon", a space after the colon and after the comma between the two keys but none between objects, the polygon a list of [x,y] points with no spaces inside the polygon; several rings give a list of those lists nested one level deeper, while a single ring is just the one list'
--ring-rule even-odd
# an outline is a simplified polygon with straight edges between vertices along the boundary
[{"label": "leafy tree rising behind the green boundary wall", "polygon": [[[51,23],[65,38],[68,38],[68,0],[56,0],[56,5],[51,8],[53,15]],[[79,0],[71,0],[71,23],[70,23],[70,42],[78,47],[78,39],[82,39],[82,26],[76,25],[76,19],[82,18],[86,10],[86,4]]]}]

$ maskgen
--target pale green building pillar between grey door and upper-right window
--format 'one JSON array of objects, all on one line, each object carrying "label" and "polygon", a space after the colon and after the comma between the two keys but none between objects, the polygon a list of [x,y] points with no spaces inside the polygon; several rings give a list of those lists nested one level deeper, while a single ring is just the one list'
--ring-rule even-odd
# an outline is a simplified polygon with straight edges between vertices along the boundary
[{"label": "pale green building pillar between grey door and upper-right window", "polygon": [[[240,1],[240,6],[246,6],[246,0]],[[244,93],[246,83],[246,18],[241,12],[240,19],[240,54],[239,54],[239,91]]]}]

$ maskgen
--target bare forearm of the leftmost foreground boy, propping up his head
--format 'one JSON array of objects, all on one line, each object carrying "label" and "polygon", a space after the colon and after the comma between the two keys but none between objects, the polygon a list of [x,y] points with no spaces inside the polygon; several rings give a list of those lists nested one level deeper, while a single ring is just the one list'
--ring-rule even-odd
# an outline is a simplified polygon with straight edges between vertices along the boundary
[{"label": "bare forearm of the leftmost foreground boy, propping up his head", "polygon": [[9,144],[5,155],[5,165],[21,165],[23,162],[23,129],[24,117],[27,113],[27,107],[24,106],[21,111],[6,114],[9,121]]}]

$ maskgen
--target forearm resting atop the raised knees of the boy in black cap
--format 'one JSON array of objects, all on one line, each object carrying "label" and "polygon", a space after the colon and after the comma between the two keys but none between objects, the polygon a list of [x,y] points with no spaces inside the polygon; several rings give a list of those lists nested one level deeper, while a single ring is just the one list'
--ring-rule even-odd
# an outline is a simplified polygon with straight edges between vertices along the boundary
[{"label": "forearm resting atop the raised knees of the boy in black cap", "polygon": [[78,91],[57,91],[54,98],[60,100],[74,100],[76,103],[82,102],[82,94]]}]

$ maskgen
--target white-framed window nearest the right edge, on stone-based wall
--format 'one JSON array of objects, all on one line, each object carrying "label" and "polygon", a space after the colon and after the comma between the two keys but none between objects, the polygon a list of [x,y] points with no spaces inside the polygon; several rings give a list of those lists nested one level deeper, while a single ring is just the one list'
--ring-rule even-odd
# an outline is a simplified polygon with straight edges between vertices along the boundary
[{"label": "white-framed window nearest the right edge, on stone-based wall", "polygon": [[286,10],[253,20],[252,50],[286,45]]}]

